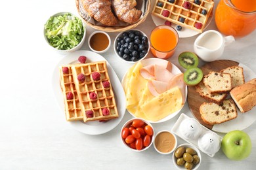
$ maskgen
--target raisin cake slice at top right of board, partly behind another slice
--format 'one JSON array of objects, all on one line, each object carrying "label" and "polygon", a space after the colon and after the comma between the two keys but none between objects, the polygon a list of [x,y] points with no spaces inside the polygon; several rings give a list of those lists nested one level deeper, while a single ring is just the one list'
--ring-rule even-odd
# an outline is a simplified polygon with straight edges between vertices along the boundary
[{"label": "raisin cake slice at top right of board, partly behind another slice", "polygon": [[232,80],[232,88],[244,84],[244,69],[238,65],[227,67],[221,70],[221,73],[229,73]]}]

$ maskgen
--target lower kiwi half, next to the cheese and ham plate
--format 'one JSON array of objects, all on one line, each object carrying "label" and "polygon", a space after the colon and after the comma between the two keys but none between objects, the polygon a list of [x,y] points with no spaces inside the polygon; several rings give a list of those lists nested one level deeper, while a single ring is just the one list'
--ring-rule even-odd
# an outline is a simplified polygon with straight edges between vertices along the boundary
[{"label": "lower kiwi half, next to the cheese and ham plate", "polygon": [[203,71],[198,67],[187,69],[183,78],[186,85],[195,86],[202,80]]}]

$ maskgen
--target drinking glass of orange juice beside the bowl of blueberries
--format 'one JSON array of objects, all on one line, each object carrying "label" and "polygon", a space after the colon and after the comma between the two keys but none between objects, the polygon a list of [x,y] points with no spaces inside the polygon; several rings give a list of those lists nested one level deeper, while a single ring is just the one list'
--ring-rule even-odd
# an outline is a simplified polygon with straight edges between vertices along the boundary
[{"label": "drinking glass of orange juice beside the bowl of blueberries", "polygon": [[169,25],[159,25],[150,35],[150,51],[156,58],[167,59],[173,56],[179,35],[177,31]]}]

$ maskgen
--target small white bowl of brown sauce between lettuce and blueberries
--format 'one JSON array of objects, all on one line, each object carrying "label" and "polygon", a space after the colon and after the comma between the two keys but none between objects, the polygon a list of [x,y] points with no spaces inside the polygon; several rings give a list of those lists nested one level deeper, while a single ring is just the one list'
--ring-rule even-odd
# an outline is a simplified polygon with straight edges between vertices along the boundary
[{"label": "small white bowl of brown sauce between lettuce and blueberries", "polygon": [[110,36],[104,31],[91,33],[88,39],[89,48],[96,53],[104,53],[110,48]]}]

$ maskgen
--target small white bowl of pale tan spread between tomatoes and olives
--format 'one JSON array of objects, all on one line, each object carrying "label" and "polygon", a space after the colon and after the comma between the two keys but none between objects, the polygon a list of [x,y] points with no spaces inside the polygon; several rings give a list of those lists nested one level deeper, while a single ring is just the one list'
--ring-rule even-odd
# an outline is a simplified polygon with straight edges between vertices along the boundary
[{"label": "small white bowl of pale tan spread between tomatoes and olives", "polygon": [[[161,152],[159,149],[158,149],[158,146],[156,146],[156,139],[158,139],[159,135],[161,135],[161,133],[169,133],[170,135],[173,136],[174,138],[174,141],[170,141],[166,138],[162,138],[163,140],[161,140],[161,146],[167,148],[167,150],[169,150],[169,146],[170,145],[173,145],[171,148],[171,150],[169,150],[169,152]],[[175,134],[171,133],[171,131],[167,131],[167,130],[162,130],[162,131],[159,131],[155,137],[154,137],[154,148],[156,149],[156,151],[160,154],[171,154],[177,147],[177,137],[175,136]]]}]

